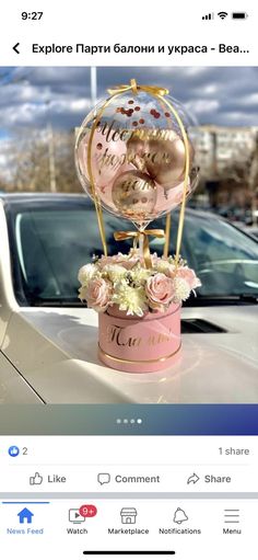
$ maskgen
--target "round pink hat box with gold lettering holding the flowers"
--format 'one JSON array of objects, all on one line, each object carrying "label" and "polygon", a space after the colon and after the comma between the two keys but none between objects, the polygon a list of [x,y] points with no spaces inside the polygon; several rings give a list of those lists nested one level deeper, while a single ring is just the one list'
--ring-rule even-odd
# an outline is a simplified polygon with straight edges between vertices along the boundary
[{"label": "round pink hat box with gold lettering holding the flowers", "polygon": [[98,313],[98,355],[114,369],[133,374],[173,366],[180,355],[180,305],[165,312],[127,316],[118,306]]}]

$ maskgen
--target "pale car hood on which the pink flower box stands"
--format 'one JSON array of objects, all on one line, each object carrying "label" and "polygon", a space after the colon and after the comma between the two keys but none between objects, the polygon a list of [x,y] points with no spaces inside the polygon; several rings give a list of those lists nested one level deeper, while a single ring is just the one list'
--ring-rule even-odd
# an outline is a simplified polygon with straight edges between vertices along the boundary
[{"label": "pale car hood on which the pink flower box stands", "polygon": [[183,334],[180,359],[159,373],[102,365],[97,313],[84,308],[21,308],[2,352],[45,402],[258,402],[258,307],[186,308],[183,318],[225,332]]}]

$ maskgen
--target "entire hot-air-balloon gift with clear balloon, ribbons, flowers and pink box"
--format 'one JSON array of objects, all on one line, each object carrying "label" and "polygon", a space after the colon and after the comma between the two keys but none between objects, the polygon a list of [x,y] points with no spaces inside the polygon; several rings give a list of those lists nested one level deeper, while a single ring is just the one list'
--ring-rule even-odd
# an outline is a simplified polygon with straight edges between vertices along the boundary
[{"label": "entire hot-air-balloon gift with clear balloon, ribbons, flowers and pink box", "polygon": [[[75,144],[79,180],[94,201],[104,249],[80,268],[79,297],[98,313],[105,365],[157,372],[179,358],[180,306],[201,285],[179,256],[186,198],[198,183],[195,125],[164,88],[132,79],[108,94],[84,119]],[[169,214],[178,206],[176,255],[167,256]],[[129,254],[107,256],[103,209],[137,227],[114,233],[116,241],[133,239]],[[165,232],[145,229],[163,215]],[[151,255],[149,236],[166,238],[163,258]]]}]

